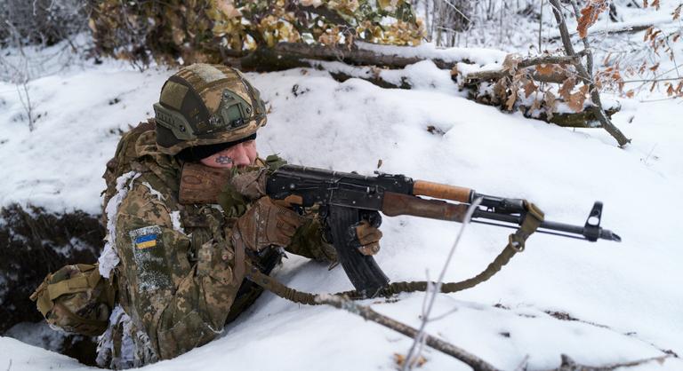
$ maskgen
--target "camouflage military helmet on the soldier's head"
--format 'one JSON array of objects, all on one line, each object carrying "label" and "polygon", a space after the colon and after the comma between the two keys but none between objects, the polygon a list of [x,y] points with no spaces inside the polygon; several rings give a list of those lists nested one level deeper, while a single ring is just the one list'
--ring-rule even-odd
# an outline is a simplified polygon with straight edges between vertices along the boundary
[{"label": "camouflage military helmet on the soldier's head", "polygon": [[194,64],[181,68],[161,88],[154,104],[157,147],[179,154],[190,147],[235,144],[266,124],[259,91],[237,69]]}]

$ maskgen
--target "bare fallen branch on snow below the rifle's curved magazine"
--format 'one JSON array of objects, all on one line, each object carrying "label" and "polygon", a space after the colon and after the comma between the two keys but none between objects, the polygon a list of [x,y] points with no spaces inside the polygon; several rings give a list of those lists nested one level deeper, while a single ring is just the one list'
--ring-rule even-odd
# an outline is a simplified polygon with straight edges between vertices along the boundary
[{"label": "bare fallen branch on snow below the rifle's curved magazine", "polygon": [[[356,304],[342,296],[320,294],[316,296],[316,302],[319,304],[332,305],[335,308],[357,314],[358,316],[363,317],[365,320],[372,320],[373,322],[378,323],[385,328],[391,328],[392,330],[411,338],[414,338],[418,334],[417,329],[401,323],[398,320],[392,320],[385,315],[374,312],[370,307]],[[462,350],[451,343],[439,340],[431,335],[424,335],[424,339],[425,343],[431,348],[441,351],[451,357],[454,357],[455,359],[461,360],[463,363],[472,367],[472,369],[475,371],[498,371],[498,368],[486,362],[486,360],[480,359],[474,354]]]}]

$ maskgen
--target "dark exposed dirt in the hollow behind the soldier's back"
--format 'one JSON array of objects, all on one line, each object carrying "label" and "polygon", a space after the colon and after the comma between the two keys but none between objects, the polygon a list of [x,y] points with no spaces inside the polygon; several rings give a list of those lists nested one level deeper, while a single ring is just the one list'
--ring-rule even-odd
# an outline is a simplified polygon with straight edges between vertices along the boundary
[{"label": "dark exposed dirt in the hollow behind the soldier's back", "polygon": [[[79,210],[55,214],[16,204],[0,209],[0,334],[20,322],[43,320],[28,296],[49,272],[94,263],[104,234],[100,216]],[[92,364],[92,339],[73,337],[60,352]]]}]

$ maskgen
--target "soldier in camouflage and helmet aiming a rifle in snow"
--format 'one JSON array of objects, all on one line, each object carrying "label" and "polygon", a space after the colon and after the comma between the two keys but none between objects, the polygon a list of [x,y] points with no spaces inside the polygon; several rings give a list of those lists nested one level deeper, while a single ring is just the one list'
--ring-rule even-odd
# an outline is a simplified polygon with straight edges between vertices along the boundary
[{"label": "soldier in camouflage and helmet aiming a rifle in snow", "polygon": [[[257,156],[266,109],[244,75],[184,67],[154,109],[155,119],[121,139],[105,173],[99,269],[118,291],[100,336],[102,367],[140,367],[211,341],[260,293],[243,282],[245,259],[263,272],[279,261],[274,247],[335,260],[315,209],[300,215],[264,196],[282,162]],[[199,200],[207,194],[213,200]],[[382,233],[367,222],[356,232],[361,252],[376,253]]]}]

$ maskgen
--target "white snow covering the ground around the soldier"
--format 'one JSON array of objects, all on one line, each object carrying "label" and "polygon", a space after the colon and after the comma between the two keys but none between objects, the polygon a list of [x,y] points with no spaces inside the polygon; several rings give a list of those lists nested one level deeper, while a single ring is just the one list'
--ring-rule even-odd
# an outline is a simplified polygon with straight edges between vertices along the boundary
[{"label": "white snow covering the ground around the soldier", "polygon": [[[107,59],[36,78],[29,83],[30,97],[41,117],[33,131],[20,119],[15,86],[1,82],[0,206],[20,202],[99,213],[100,175],[120,133],[149,117],[173,72],[138,72]],[[620,149],[604,130],[567,130],[464,99],[447,71],[430,62],[406,74],[414,90],[383,90],[358,79],[337,83],[314,69],[250,74],[271,107],[257,138],[260,153],[363,174],[372,174],[382,160],[384,172],[527,198],[547,219],[576,225],[585,222],[593,201],[603,201],[603,226],[619,233],[622,243],[536,234],[492,280],[439,296],[432,314],[452,313],[431,322],[428,332],[505,370],[558,367],[562,353],[595,366],[663,351],[682,354],[683,105],[623,100],[615,124],[633,143]],[[430,126],[438,130],[431,133]],[[385,217],[377,260],[392,280],[424,280],[426,272],[434,278],[458,229]],[[508,233],[470,225],[446,280],[483,270]],[[328,272],[300,257],[285,260],[275,275],[310,292],[351,288],[341,268]],[[422,297],[363,304],[418,326]],[[146,369],[390,370],[394,353],[405,354],[410,344],[348,312],[291,304],[267,293],[220,339]],[[425,370],[470,369],[438,351],[424,355]],[[0,337],[0,368],[89,367]],[[637,369],[683,369],[683,361]]]}]

